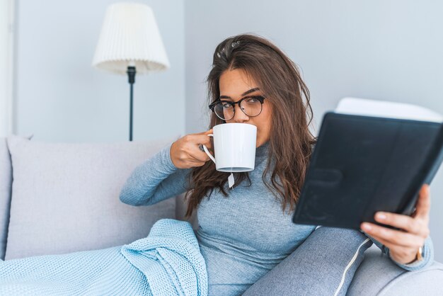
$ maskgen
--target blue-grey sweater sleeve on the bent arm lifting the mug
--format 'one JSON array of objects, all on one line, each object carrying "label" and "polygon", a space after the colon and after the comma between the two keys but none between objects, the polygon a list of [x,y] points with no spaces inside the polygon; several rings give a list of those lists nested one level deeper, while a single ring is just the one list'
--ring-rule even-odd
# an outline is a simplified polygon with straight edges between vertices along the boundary
[{"label": "blue-grey sweater sleeve on the bent arm lifting the mug", "polygon": [[171,146],[163,147],[132,171],[120,191],[120,200],[128,205],[154,205],[186,192],[190,171],[178,169],[171,160]]}]

